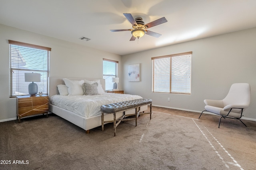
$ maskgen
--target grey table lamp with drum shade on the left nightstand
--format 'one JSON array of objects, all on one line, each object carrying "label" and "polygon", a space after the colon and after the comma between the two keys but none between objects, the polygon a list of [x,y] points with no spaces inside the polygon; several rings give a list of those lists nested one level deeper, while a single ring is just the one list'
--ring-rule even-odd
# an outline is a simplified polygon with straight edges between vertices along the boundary
[{"label": "grey table lamp with drum shade on the left nightstand", "polygon": [[38,86],[34,82],[41,82],[41,74],[39,73],[24,73],[25,74],[25,82],[32,82],[28,84],[28,94],[30,96],[36,96],[38,92]]}]

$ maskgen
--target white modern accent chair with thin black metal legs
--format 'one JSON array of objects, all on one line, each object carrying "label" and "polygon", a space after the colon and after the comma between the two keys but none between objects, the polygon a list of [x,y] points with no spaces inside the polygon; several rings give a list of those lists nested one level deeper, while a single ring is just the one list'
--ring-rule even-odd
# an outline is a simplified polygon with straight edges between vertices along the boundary
[{"label": "white modern accent chair with thin black metal legs", "polygon": [[[250,104],[250,97],[251,97],[250,84],[235,83],[235,84],[232,84],[228,92],[228,95],[223,100],[204,100],[204,103],[206,104],[206,106],[204,107],[205,108],[204,111],[209,111],[211,113],[220,115],[221,116],[220,121],[222,117],[224,119],[232,118],[232,119],[240,120],[244,109],[248,107]],[[202,111],[202,113],[204,111]],[[199,116],[198,119],[200,119],[201,115]],[[220,128],[220,121],[219,121],[219,128]]]}]

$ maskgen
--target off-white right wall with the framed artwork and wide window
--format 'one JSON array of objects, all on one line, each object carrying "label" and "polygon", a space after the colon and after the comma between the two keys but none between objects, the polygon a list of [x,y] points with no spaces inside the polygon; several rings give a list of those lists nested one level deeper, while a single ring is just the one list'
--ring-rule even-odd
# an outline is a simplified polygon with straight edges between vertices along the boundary
[{"label": "off-white right wall with the framed artwork and wide window", "polygon": [[[154,106],[201,112],[204,99],[222,100],[233,83],[247,82],[251,85],[251,104],[244,118],[256,120],[255,37],[256,28],[252,28],[122,56],[124,92],[150,98]],[[152,93],[151,57],[188,51],[193,52],[192,94]],[[128,82],[128,65],[138,63],[141,81]]]}]

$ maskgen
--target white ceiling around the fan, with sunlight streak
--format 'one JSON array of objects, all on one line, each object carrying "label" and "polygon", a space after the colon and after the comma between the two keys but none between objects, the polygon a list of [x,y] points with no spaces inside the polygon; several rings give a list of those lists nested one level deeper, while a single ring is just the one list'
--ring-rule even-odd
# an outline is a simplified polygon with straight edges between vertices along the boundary
[{"label": "white ceiling around the fan, with sunlight streak", "polygon": [[[130,31],[110,32],[132,28],[123,13],[168,22],[148,29],[159,38],[129,41]],[[256,27],[256,0],[0,0],[0,23],[126,55]]]}]

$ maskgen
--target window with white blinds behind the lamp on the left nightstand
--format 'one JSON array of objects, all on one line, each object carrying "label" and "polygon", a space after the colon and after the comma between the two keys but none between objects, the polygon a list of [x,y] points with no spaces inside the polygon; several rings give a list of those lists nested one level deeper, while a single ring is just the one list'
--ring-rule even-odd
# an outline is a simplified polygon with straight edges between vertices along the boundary
[{"label": "window with white blinds behind the lamp on the left nightstand", "polygon": [[10,96],[28,95],[24,73],[40,73],[41,82],[36,82],[38,92],[48,94],[51,48],[9,40],[10,44]]}]

